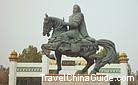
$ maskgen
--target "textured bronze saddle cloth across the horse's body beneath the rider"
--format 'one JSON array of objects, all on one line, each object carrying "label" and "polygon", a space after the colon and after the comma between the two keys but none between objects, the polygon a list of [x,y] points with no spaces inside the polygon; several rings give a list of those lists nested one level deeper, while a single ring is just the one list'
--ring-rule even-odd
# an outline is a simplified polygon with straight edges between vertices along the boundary
[{"label": "textured bronze saddle cloth across the horse's body beneath the rider", "polygon": [[57,40],[56,38],[49,39],[48,44],[51,46],[53,50],[59,50],[60,52],[86,52],[90,49],[93,49],[95,46],[95,41],[90,39],[80,39],[75,40],[71,39],[69,42],[62,42],[61,40]]}]

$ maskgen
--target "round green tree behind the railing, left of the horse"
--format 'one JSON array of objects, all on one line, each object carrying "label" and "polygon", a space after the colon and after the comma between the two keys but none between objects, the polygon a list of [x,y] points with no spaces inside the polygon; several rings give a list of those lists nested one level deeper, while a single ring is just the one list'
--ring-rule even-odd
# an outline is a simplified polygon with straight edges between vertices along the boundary
[{"label": "round green tree behind the railing, left of the horse", "polygon": [[37,51],[37,48],[33,45],[29,45],[28,48],[23,49],[19,54],[18,62],[42,62],[42,55]]}]

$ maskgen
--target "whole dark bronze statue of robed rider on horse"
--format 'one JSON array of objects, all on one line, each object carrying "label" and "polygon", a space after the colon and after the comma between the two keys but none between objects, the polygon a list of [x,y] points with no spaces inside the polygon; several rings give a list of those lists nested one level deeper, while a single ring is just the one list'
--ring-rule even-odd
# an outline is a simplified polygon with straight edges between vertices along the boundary
[{"label": "whole dark bronze statue of robed rider on horse", "polygon": [[[62,70],[62,55],[83,57],[87,61],[86,66],[81,71],[77,71],[77,74],[87,72],[94,63],[95,67],[90,74],[96,73],[101,67],[107,63],[112,63],[117,57],[115,44],[112,41],[95,40],[88,35],[84,15],[81,13],[79,5],[73,6],[73,14],[69,17],[69,22],[64,22],[64,20],[56,17],[49,17],[46,14],[43,23],[43,36],[49,37],[51,30],[53,30],[51,38],[48,43],[42,44],[41,48],[47,57],[56,59],[57,74]],[[96,55],[99,46],[107,51],[106,57]],[[50,55],[51,51],[55,51],[56,58]]]}]

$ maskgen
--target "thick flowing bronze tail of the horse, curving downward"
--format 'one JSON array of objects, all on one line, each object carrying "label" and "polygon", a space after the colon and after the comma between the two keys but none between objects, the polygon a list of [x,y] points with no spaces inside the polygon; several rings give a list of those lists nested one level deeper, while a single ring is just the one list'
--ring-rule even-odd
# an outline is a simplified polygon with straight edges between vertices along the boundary
[{"label": "thick flowing bronze tail of the horse, curving downward", "polygon": [[107,51],[106,56],[102,58],[102,60],[100,61],[100,64],[104,66],[107,63],[109,64],[112,63],[117,57],[115,44],[112,41],[106,40],[106,39],[97,40],[97,44],[99,46],[102,46]]}]

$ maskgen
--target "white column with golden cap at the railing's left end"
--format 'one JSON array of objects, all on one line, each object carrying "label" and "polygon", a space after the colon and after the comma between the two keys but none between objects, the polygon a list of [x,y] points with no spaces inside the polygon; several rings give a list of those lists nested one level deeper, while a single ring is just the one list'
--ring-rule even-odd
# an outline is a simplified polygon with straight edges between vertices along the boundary
[{"label": "white column with golden cap at the railing's left end", "polygon": [[10,69],[9,69],[9,85],[16,85],[16,67],[17,67],[17,52],[14,50],[11,52],[9,61],[10,61]]}]

